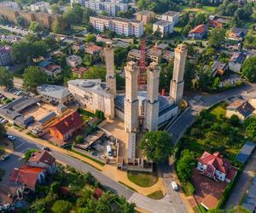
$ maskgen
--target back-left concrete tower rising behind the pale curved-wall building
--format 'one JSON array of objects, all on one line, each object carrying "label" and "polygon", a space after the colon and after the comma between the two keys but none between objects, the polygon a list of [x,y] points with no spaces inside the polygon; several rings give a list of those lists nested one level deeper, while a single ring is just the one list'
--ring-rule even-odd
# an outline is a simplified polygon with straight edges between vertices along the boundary
[{"label": "back-left concrete tower rising behind the pale curved-wall building", "polygon": [[106,61],[106,84],[109,88],[110,93],[115,97],[116,95],[116,79],[114,72],[114,62],[113,62],[113,47],[111,43],[106,43],[107,46],[105,51],[105,61]]}]

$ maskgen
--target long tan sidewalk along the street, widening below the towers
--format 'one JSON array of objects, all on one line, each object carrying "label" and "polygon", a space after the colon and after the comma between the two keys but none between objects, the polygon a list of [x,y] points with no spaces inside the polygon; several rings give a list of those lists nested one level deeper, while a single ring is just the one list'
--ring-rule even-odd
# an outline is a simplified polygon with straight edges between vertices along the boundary
[{"label": "long tan sidewalk along the street, widening below the towers", "polygon": [[102,166],[100,164],[97,164],[95,161],[90,160],[90,158],[85,158],[84,156],[81,156],[77,153],[69,152],[66,149],[63,149],[61,147],[55,147],[54,145],[50,144],[48,141],[45,141],[43,139],[33,138],[29,135],[26,135],[26,133],[24,131],[20,132],[19,130],[15,130],[14,128],[9,128],[9,127],[8,127],[8,130],[10,133],[14,133],[15,135],[20,135],[20,137],[27,139],[29,141],[34,141],[35,143],[38,143],[42,146],[47,146],[50,149],[55,150],[59,153],[64,153],[71,157],[79,158],[79,159],[83,160],[85,163],[92,165],[97,170],[101,170],[102,174],[110,177],[111,179],[113,179],[113,181],[121,181],[125,185],[137,190],[137,193],[141,193],[144,196],[147,196],[148,194],[154,193],[155,191],[158,191],[158,190],[161,190],[164,194],[166,193],[166,188],[163,184],[161,177],[159,177],[159,180],[157,181],[157,183],[154,184],[154,186],[152,186],[152,187],[139,187],[135,183],[129,181],[126,171],[117,170],[117,168],[113,165],[105,164],[104,166]]}]

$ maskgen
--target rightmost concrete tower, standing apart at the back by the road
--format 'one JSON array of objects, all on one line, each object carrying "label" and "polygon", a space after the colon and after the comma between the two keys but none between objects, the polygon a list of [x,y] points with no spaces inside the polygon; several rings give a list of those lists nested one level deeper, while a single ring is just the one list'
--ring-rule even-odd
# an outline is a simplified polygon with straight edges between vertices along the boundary
[{"label": "rightmost concrete tower, standing apart at the back by the road", "polygon": [[175,49],[173,76],[170,86],[170,98],[176,104],[178,104],[183,97],[183,76],[187,53],[188,49],[186,45],[183,43],[177,45],[177,48]]}]

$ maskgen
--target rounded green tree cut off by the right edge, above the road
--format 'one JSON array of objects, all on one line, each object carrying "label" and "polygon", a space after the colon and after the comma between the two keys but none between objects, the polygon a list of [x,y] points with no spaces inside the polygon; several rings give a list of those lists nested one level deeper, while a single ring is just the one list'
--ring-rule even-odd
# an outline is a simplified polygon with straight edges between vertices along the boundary
[{"label": "rounded green tree cut off by the right edge, above the road", "polygon": [[241,73],[244,78],[249,82],[256,82],[256,56],[247,58],[242,66]]}]

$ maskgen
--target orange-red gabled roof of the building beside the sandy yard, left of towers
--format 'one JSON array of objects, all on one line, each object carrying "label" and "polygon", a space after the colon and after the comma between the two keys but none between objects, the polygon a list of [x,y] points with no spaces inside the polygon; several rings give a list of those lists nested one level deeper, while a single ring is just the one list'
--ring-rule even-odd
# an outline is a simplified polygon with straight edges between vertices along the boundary
[{"label": "orange-red gabled roof of the building beside the sandy yard, left of towers", "polygon": [[58,130],[61,135],[65,135],[69,130],[73,128],[77,129],[81,125],[83,125],[83,119],[79,115],[79,112],[70,112],[64,118],[57,121],[55,124],[51,125],[49,128]]}]

